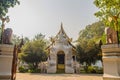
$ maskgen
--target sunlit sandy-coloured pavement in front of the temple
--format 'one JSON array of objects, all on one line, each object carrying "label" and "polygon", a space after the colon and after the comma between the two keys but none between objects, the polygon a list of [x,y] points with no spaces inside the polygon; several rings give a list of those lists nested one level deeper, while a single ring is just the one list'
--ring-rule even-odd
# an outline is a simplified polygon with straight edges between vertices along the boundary
[{"label": "sunlit sandy-coloured pavement in front of the temple", "polygon": [[17,73],[16,80],[103,80],[101,74],[31,74]]}]

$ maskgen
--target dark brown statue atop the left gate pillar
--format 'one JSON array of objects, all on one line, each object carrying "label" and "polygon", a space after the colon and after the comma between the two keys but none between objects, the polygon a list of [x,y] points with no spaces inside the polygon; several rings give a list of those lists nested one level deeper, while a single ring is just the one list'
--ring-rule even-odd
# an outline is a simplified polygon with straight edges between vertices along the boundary
[{"label": "dark brown statue atop the left gate pillar", "polygon": [[3,33],[3,43],[4,44],[11,44],[12,43],[12,29],[11,28],[7,28],[4,30]]}]

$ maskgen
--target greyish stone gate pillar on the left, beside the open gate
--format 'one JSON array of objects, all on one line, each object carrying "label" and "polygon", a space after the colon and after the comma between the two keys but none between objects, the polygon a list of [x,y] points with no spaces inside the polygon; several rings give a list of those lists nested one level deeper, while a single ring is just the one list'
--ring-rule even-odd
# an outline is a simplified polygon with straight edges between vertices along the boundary
[{"label": "greyish stone gate pillar on the left, beside the open gate", "polygon": [[0,44],[0,80],[12,76],[13,51],[13,45]]}]

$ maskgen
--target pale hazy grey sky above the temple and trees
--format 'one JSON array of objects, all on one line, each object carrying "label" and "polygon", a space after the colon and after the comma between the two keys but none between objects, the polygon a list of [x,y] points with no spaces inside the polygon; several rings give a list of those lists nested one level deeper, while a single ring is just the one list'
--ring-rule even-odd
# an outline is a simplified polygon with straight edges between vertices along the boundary
[{"label": "pale hazy grey sky above the temple and trees", "polygon": [[60,30],[61,22],[66,34],[76,40],[80,30],[98,19],[94,0],[19,0],[20,5],[9,9],[10,22],[6,28],[23,37],[33,38],[42,33],[49,38]]}]

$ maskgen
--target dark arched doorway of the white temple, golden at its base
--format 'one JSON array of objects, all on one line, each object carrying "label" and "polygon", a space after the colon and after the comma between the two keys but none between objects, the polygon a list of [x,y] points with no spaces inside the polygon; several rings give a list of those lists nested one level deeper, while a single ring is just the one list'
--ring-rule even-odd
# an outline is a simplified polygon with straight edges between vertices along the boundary
[{"label": "dark arched doorway of the white temple, golden at its base", "polygon": [[65,53],[63,51],[57,53],[57,73],[65,73]]}]

